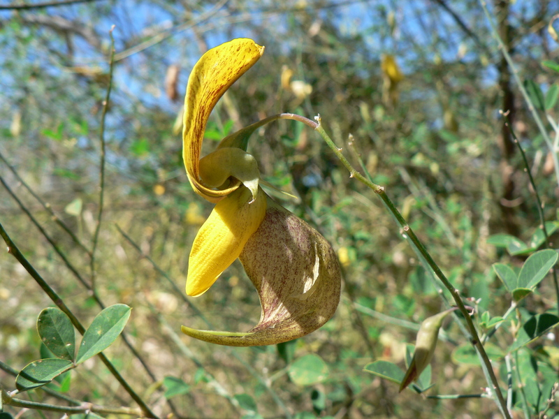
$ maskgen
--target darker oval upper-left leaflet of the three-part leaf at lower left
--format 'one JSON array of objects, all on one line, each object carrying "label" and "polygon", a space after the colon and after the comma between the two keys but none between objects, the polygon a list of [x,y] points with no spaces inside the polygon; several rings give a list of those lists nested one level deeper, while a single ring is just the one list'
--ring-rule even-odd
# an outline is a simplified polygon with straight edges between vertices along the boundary
[{"label": "darker oval upper-left leaflet of the three-part leaf at lower left", "polygon": [[73,361],[75,334],[72,322],[55,307],[41,311],[37,318],[37,331],[43,344],[58,358]]}]

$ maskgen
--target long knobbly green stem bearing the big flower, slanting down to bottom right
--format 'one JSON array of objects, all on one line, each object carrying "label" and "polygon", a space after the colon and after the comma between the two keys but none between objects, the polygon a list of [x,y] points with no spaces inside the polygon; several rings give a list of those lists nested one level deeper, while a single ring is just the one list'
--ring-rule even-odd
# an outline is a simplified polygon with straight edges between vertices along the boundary
[{"label": "long knobbly green stem bearing the big flower, slanting down to bottom right", "polygon": [[[435,263],[435,260],[433,260],[433,258],[431,258],[427,249],[419,241],[419,239],[415,235],[412,228],[409,227],[409,224],[405,221],[405,219],[402,217],[402,214],[400,214],[400,212],[398,211],[398,208],[395,207],[395,205],[392,203],[390,198],[386,195],[386,193],[384,191],[384,187],[379,186],[379,185],[371,182],[369,179],[365,178],[363,175],[361,175],[361,173],[359,173],[357,170],[355,170],[354,167],[351,166],[351,163],[349,163],[349,161],[342,154],[342,149],[338,148],[335,145],[335,143],[331,140],[331,138],[328,136],[326,131],[324,131],[324,128],[322,128],[320,115],[315,117],[315,119],[317,119],[317,122],[318,122],[317,127],[315,128],[315,131],[317,131],[321,135],[321,137],[324,138],[324,141],[326,141],[326,144],[328,144],[328,146],[332,149],[332,151],[337,156],[337,158],[342,162],[344,167],[347,168],[347,170],[349,171],[349,177],[356,178],[359,182],[365,184],[370,189],[372,189],[372,191],[377,193],[377,195],[381,198],[384,205],[386,205],[386,207],[389,209],[391,214],[394,216],[394,218],[398,222],[398,224],[400,226],[400,234],[402,235],[402,237],[408,238],[414,244],[414,247],[416,247],[419,250],[419,253],[421,253],[421,256],[423,256],[423,258],[425,258],[425,260],[428,263],[428,265],[430,266],[430,268],[433,270],[433,272],[435,272],[435,274],[440,279],[442,284],[451,293],[454,301],[456,302],[456,305],[458,306],[458,309],[460,310],[460,312],[464,316],[464,319],[465,319],[465,322],[466,322],[466,325],[467,325],[467,329],[468,329],[468,331],[470,332],[470,335],[471,335],[472,344],[476,348],[477,353],[481,358],[482,365],[484,366],[484,372],[486,372],[486,378],[488,380],[488,384],[491,385],[491,388],[492,388],[493,392],[495,392],[495,395],[497,396],[498,406],[500,407],[500,410],[501,410],[503,416],[507,419],[510,419],[511,418],[510,413],[507,410],[507,404],[506,404],[506,402],[503,398],[503,395],[501,393],[501,390],[499,388],[499,383],[498,383],[497,377],[495,376],[495,373],[493,372],[493,366],[491,365],[491,360],[489,359],[489,357],[488,357],[488,355],[487,355],[487,353],[484,349],[484,345],[481,343],[481,341],[479,339],[479,336],[477,334],[477,330],[475,328],[474,322],[472,321],[472,318],[470,316],[470,312],[466,309],[465,304],[462,301],[462,298],[460,297],[460,294],[458,293],[458,290],[456,288],[454,288],[454,286],[450,283],[450,281],[447,279],[447,277],[444,276],[442,270],[440,270],[440,267],[437,265],[437,263]],[[309,125],[309,124],[307,124],[307,125]]]}]

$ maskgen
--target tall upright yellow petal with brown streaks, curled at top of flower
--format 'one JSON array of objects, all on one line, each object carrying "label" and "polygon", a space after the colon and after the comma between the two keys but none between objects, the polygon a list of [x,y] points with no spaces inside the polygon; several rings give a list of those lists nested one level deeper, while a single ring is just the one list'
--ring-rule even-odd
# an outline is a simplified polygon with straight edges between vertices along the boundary
[{"label": "tall upright yellow petal with brown streaks, curled at top of flower", "polygon": [[201,183],[198,161],[205,126],[219,98],[263,52],[264,47],[256,45],[252,39],[233,39],[203,54],[190,73],[184,97],[182,158],[194,191],[212,202],[228,195],[239,184],[215,191]]}]

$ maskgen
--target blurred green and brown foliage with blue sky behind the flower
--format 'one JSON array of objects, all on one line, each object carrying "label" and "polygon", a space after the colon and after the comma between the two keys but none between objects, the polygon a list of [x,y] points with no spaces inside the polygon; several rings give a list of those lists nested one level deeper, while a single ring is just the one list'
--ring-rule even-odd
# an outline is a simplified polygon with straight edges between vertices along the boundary
[{"label": "blurred green and brown foliage with blue sky behind the flower", "polygon": [[[518,0],[488,6],[553,138],[546,115],[552,122],[558,118],[552,22],[558,5]],[[113,24],[104,204],[92,258]],[[218,103],[205,151],[268,115],[296,112],[312,119],[320,113],[344,153],[356,167],[358,153],[453,286],[472,299],[479,330],[491,334],[500,324],[486,348],[493,349],[502,388],[512,362],[520,374],[516,383],[530,384],[534,393],[515,386],[511,403],[525,417],[550,406],[553,416],[554,404],[546,400],[558,381],[556,335],[510,351],[515,342],[521,346],[518,339],[530,340],[518,337],[520,325],[537,314],[556,315],[558,302],[548,275],[516,309],[515,287],[497,275],[502,265],[518,274],[545,241],[532,237],[541,223],[537,200],[499,110],[510,111],[550,233],[557,228],[558,177],[483,9],[467,0],[99,0],[0,8],[0,222],[86,327],[102,307],[133,308],[124,337],[139,358],[122,339],[105,351],[126,381],[158,416],[499,414],[490,399],[425,399],[409,390],[398,395],[398,385],[363,372],[375,360],[405,368],[406,344],[414,342],[419,323],[445,307],[380,200],[349,178],[316,133],[295,122],[266,126],[252,137],[249,151],[268,182],[300,197],[284,205],[337,251],[344,268],[337,314],[312,335],[277,347],[225,348],[177,335],[181,324],[244,331],[259,318],[258,298],[238,262],[202,297],[187,300],[182,291],[189,247],[211,211],[184,173],[177,126],[182,94],[205,50],[241,36],[266,45],[266,53]],[[401,80],[382,70],[386,54],[398,63]],[[518,251],[518,240],[525,249]],[[550,242],[557,247],[557,233]],[[3,253],[0,304],[0,386],[13,390],[9,367],[19,372],[50,358],[35,325],[52,301]],[[509,308],[507,321],[495,320]],[[443,328],[434,387],[426,394],[484,393],[486,381],[456,321]],[[49,384],[52,390],[103,406],[136,407],[97,358],[65,374]],[[20,396],[64,404],[43,390]],[[14,416],[39,414],[4,407]]]}]

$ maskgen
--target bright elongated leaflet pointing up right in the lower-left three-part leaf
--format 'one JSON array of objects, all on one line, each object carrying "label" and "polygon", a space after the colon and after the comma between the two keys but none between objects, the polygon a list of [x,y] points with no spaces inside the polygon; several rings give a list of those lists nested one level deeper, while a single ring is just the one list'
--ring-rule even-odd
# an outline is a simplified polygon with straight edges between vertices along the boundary
[{"label": "bright elongated leaflet pointing up right in the lower-left three-part leaf", "polygon": [[76,358],[80,364],[104,351],[120,335],[130,317],[131,308],[126,304],[115,304],[103,309],[85,331]]}]

